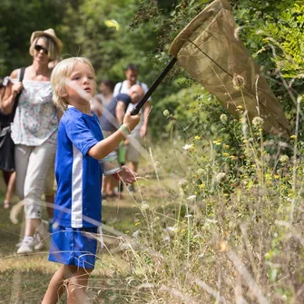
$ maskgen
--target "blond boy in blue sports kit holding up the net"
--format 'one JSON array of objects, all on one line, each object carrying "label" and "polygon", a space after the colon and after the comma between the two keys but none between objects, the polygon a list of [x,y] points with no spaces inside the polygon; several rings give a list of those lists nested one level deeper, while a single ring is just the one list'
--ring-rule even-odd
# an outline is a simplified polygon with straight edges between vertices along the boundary
[{"label": "blond boy in blue sports kit holding up the net", "polygon": [[[43,303],[56,303],[67,283],[67,302],[84,303],[87,282],[94,268],[96,233],[101,223],[103,172],[98,160],[116,148],[140,121],[125,115],[122,126],[103,139],[98,118],[90,110],[95,93],[92,64],[83,57],[64,59],[51,76],[54,103],[64,111],[55,159],[57,193],[49,260],[61,263],[44,295]],[[135,174],[123,166],[116,177],[126,183]]]}]

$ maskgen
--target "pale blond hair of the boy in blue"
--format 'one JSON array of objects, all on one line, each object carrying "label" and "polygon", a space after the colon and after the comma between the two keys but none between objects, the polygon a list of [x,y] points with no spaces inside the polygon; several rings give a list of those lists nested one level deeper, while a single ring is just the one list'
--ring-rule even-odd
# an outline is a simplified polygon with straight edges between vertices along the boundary
[{"label": "pale blond hair of the boy in blue", "polygon": [[89,59],[85,57],[72,57],[64,59],[54,67],[54,70],[51,74],[53,103],[62,111],[65,111],[68,105],[67,101],[64,98],[64,93],[66,92],[65,79],[73,73],[74,67],[78,63],[86,65],[92,71],[93,76],[95,77],[93,65]]}]

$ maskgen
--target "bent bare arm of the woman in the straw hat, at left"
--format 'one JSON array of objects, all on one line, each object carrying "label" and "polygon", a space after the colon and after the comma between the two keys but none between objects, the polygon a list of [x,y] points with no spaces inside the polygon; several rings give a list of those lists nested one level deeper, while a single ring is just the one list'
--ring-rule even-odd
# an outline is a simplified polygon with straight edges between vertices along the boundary
[{"label": "bent bare arm of the woman in the straw hat, at left", "polygon": [[[20,69],[13,71],[12,74],[10,75],[10,78],[16,79],[18,76],[19,70]],[[0,109],[3,113],[5,113],[5,114],[12,113],[14,103],[15,103],[15,96],[21,91],[22,88],[23,88],[23,84],[21,82],[18,82],[18,83],[8,82],[7,83],[7,85],[5,86],[5,95],[0,103]]]}]

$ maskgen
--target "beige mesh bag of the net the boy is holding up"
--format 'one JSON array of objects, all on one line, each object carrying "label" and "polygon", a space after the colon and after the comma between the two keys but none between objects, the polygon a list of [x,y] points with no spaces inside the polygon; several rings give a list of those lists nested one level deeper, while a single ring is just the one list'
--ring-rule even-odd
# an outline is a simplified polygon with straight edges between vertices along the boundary
[{"label": "beige mesh bag of the net the boy is holding up", "polygon": [[240,41],[226,0],[215,0],[197,15],[174,39],[169,52],[229,113],[240,114],[241,106],[250,121],[263,118],[265,131],[289,137],[289,121]]}]

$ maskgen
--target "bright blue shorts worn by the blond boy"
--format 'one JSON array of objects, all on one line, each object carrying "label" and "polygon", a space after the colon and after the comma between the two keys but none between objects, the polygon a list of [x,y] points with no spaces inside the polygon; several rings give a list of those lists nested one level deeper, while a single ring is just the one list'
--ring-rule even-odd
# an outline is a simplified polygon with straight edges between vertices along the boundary
[{"label": "bright blue shorts worn by the blond boy", "polygon": [[64,265],[93,269],[97,251],[98,227],[54,228],[49,260]]}]

